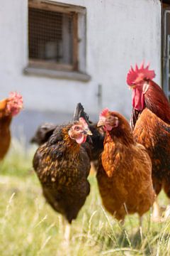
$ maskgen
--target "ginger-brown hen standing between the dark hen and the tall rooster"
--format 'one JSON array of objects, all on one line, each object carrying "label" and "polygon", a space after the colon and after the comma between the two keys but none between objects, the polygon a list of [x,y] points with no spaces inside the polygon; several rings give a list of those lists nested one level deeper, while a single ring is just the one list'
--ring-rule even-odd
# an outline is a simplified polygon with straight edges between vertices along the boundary
[{"label": "ginger-brown hen standing between the dark hen and the tall rooster", "polygon": [[106,131],[98,188],[103,206],[118,220],[127,213],[141,217],[154,202],[152,163],[144,146],[133,138],[128,121],[118,112],[101,112],[98,127]]}]

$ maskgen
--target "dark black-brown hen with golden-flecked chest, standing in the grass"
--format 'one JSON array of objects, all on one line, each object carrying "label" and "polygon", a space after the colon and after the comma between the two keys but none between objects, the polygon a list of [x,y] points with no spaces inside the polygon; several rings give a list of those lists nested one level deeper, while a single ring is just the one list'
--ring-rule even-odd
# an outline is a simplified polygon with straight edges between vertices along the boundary
[{"label": "dark black-brown hen with golden-flecked chest, standing in the grass", "polygon": [[[91,131],[83,117],[79,121],[57,126],[33,158],[43,195],[68,223],[77,218],[90,192],[87,180],[91,167],[89,151],[81,146],[88,134],[91,135]],[[67,225],[66,239],[69,238],[68,230]]]}]

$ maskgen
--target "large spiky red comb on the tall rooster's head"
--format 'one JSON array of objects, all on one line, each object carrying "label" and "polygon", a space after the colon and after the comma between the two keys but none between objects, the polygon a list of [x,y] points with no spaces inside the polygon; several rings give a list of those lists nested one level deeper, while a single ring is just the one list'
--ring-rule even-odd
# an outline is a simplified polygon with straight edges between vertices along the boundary
[{"label": "large spiky red comb on the tall rooster's head", "polygon": [[143,61],[140,68],[137,67],[137,64],[135,65],[135,69],[133,69],[131,66],[126,78],[126,82],[128,83],[128,85],[135,85],[137,82],[140,82],[141,80],[152,80],[154,77],[154,70],[149,70],[149,64],[147,64],[147,66],[144,67]]}]

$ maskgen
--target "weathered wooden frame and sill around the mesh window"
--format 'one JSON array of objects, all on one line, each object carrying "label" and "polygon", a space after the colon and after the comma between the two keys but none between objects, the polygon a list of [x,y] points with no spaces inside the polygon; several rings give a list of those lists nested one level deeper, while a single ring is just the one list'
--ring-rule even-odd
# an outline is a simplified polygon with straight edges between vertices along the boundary
[{"label": "weathered wooden frame and sill around the mesh window", "polygon": [[[29,7],[73,15],[73,63],[72,65],[48,63],[46,60],[35,60],[28,57],[28,66],[24,73],[47,76],[49,70],[49,76],[52,75],[52,77],[64,78],[65,74],[67,79],[90,80],[91,77],[86,74],[86,8],[49,0],[28,0]],[[83,31],[80,31],[80,27],[83,28]],[[69,74],[67,74],[68,72]]]}]

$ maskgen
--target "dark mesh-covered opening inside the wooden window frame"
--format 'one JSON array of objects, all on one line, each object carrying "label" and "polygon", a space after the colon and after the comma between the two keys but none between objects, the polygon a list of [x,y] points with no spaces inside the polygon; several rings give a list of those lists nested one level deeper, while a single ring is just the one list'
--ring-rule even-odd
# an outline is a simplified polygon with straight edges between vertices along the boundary
[{"label": "dark mesh-covered opening inside the wooden window frame", "polygon": [[29,7],[28,26],[30,59],[72,64],[72,15]]}]

